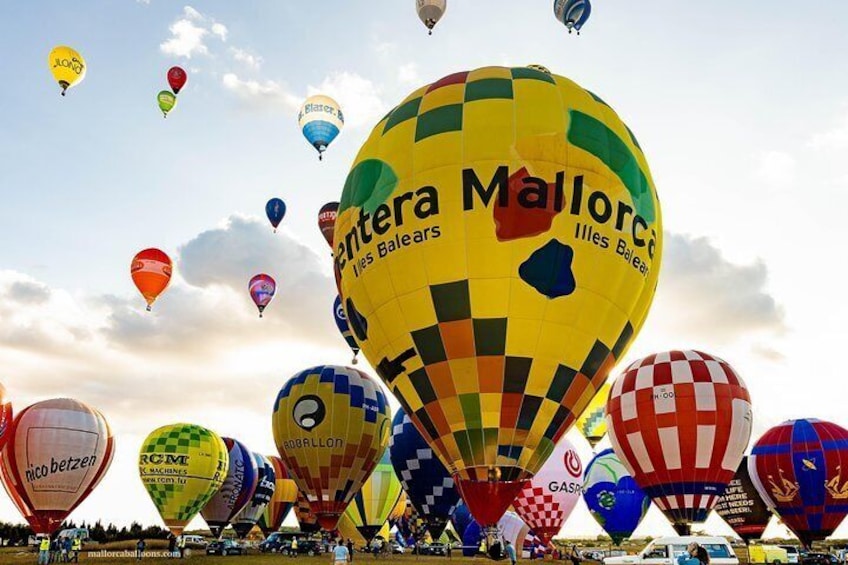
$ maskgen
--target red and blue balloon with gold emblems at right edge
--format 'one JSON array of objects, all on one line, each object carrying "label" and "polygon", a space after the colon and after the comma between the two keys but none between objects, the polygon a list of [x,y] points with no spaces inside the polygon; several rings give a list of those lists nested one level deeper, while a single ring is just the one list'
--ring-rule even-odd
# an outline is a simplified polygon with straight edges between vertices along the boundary
[{"label": "red and blue balloon with gold emblems at right edge", "polygon": [[768,430],[748,457],[763,501],[806,547],[833,533],[848,511],[848,430],[816,419]]}]

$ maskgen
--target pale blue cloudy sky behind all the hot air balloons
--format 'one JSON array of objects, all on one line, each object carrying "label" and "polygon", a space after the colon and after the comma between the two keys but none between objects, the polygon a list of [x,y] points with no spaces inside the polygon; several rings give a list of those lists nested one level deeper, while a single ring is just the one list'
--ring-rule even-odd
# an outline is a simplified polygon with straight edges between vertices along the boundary
[{"label": "pale blue cloudy sky behind all the hot air balloons", "polygon": [[[645,151],[665,255],[619,369],[695,348],[745,379],[752,441],[788,418],[848,425],[833,354],[848,338],[848,4],[597,0],[579,37],[549,0],[482,6],[451,0],[428,37],[412,0],[0,3],[0,381],[18,408],[60,396],[99,408],[117,442],[72,518],[159,523],[136,457],[166,423],[275,452],[285,380],[350,360],[318,209],[338,200],[386,111],[485,65],[540,63],[575,80]],[[60,44],[88,62],[64,98],[46,63]],[[163,120],[156,93],[174,64],[189,80]],[[296,125],[317,92],[347,120],[321,163]],[[288,205],[277,234],[263,217],[272,196]],[[177,273],[153,314],[129,277],[146,247]],[[261,271],[279,288],[260,321],[246,282]],[[2,496],[0,519],[19,520]],[[706,529],[730,531],[715,517]],[[581,503],[563,533],[600,528]],[[656,510],[637,531],[671,533]]]}]

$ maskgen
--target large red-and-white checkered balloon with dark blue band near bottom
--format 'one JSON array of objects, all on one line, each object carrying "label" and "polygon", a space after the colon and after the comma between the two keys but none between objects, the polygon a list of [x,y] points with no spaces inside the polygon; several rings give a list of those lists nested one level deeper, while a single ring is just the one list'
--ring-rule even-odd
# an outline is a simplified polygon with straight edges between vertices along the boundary
[{"label": "large red-and-white checkered balloon with dark blue band near bottom", "polygon": [[607,402],[616,455],[679,535],[703,522],[751,437],[751,398],[725,361],[666,351],[630,365]]}]

